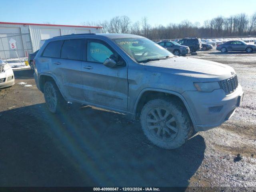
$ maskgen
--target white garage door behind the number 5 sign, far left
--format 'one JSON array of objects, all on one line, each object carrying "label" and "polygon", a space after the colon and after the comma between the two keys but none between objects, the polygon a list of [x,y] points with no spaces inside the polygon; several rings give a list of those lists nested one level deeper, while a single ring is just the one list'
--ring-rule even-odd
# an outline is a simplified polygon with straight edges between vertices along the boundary
[{"label": "white garage door behind the number 5 sign, far left", "polygon": [[[20,57],[25,56],[21,31],[20,31],[19,27],[0,27],[0,38],[2,40],[2,42],[0,42],[1,58],[15,58],[15,57],[17,57],[17,54]],[[15,50],[10,48],[9,41],[11,38],[16,41],[17,54],[16,54]]]}]

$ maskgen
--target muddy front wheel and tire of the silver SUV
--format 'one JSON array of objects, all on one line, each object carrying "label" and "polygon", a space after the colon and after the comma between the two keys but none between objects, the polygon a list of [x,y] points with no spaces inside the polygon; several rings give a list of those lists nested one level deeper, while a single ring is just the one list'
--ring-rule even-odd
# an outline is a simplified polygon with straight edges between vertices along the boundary
[{"label": "muddy front wheel and tire of the silver SUV", "polygon": [[146,137],[164,149],[182,146],[194,130],[186,108],[175,99],[147,102],[142,108],[140,123]]}]

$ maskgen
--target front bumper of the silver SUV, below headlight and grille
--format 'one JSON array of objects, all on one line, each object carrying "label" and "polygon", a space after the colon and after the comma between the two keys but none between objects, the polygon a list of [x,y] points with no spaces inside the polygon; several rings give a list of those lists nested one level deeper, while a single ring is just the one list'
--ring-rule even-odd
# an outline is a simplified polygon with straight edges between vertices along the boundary
[{"label": "front bumper of the silver SUV, below headlight and grille", "polygon": [[213,92],[186,91],[182,95],[188,102],[193,114],[196,131],[206,131],[220,126],[228,120],[243,97],[242,87],[226,95],[222,89]]}]

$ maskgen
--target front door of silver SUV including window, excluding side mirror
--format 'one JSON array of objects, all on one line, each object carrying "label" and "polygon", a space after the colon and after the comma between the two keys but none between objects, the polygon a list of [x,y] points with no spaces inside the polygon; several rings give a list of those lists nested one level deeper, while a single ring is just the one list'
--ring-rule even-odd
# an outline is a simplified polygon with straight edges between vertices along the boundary
[{"label": "front door of silver SUV including window, excluding side mirror", "polygon": [[[87,102],[127,110],[128,66],[124,60],[104,41],[88,39],[86,61],[82,62],[84,99]],[[103,65],[106,58],[118,58],[125,66],[108,68]]]}]

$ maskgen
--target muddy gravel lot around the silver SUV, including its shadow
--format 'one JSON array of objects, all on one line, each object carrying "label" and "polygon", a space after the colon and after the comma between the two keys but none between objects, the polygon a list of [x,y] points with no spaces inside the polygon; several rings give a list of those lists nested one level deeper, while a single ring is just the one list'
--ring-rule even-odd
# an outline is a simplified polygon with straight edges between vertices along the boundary
[{"label": "muddy gravel lot around the silver SUV, including its shadow", "polygon": [[0,186],[256,187],[256,53],[192,57],[232,66],[244,101],[176,150],[154,146],[122,114],[89,106],[50,114],[32,70],[15,71],[16,84],[0,90]]}]

